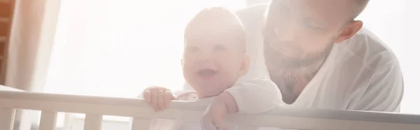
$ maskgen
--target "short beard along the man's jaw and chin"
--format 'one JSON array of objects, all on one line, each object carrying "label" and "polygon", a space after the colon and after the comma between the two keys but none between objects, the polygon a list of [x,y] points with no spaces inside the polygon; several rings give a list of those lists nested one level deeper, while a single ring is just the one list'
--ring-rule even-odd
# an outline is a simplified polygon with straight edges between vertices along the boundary
[{"label": "short beard along the man's jaw and chin", "polygon": [[304,58],[300,56],[290,57],[283,55],[281,52],[279,52],[279,50],[276,50],[274,47],[272,47],[272,45],[269,45],[271,44],[269,42],[276,42],[270,40],[272,39],[265,38],[264,40],[265,62],[267,65],[273,66],[276,69],[283,70],[297,70],[300,68],[307,68],[311,65],[321,62],[328,56],[333,46],[333,43],[330,43],[322,50],[319,50],[318,52],[312,52]]}]

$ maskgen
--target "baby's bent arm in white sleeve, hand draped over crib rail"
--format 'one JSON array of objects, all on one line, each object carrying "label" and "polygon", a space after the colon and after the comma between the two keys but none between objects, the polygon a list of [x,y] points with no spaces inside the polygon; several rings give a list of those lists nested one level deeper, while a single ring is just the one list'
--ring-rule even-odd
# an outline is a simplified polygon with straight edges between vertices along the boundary
[{"label": "baby's bent arm in white sleeve, hand draped over crib rail", "polygon": [[226,129],[222,121],[228,113],[262,113],[276,108],[280,102],[281,93],[276,84],[268,78],[239,82],[218,95],[211,103],[204,113],[202,127],[216,125],[214,127]]}]

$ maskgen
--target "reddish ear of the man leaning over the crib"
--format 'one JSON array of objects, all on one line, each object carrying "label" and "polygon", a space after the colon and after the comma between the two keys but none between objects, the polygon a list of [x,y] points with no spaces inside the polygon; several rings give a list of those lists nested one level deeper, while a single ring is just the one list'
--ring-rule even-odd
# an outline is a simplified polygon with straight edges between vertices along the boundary
[{"label": "reddish ear of the man leaning over the crib", "polygon": [[345,27],[340,34],[335,38],[334,43],[342,43],[347,39],[351,38],[356,34],[360,29],[363,27],[363,22],[360,20],[356,20],[351,22],[347,27]]}]

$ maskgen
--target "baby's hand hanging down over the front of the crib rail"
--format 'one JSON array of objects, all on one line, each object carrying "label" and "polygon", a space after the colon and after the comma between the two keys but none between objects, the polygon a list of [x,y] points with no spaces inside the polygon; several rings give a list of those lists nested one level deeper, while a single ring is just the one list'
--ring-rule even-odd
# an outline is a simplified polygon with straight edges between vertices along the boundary
[{"label": "baby's hand hanging down over the front of the crib rail", "polygon": [[207,110],[204,112],[202,117],[202,129],[203,130],[214,130],[214,129],[223,129],[227,130],[228,127],[223,122],[223,119],[228,113],[237,113],[238,108],[233,99],[232,95],[227,92],[216,97],[216,100],[207,107]]}]

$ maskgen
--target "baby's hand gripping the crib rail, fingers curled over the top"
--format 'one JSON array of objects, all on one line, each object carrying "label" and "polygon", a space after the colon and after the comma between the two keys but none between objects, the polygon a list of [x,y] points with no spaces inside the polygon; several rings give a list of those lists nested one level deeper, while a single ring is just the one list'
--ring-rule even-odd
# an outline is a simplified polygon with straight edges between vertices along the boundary
[{"label": "baby's hand gripping the crib rail, fingers curled over the top", "polygon": [[171,90],[158,86],[148,87],[144,90],[143,96],[147,103],[155,109],[155,112],[165,110],[169,107],[171,100],[176,100]]}]

